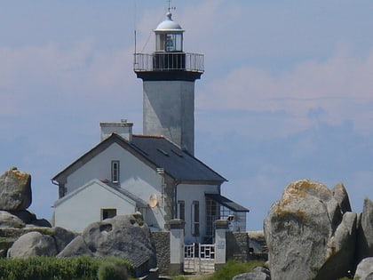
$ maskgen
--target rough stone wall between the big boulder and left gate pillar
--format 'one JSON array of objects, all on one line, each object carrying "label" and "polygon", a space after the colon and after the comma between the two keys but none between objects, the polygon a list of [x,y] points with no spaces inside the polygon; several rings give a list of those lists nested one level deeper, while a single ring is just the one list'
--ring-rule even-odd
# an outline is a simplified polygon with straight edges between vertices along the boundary
[{"label": "rough stone wall between the big boulder and left gate pillar", "polygon": [[170,269],[170,231],[152,232],[152,240],[159,272],[165,273]]}]

